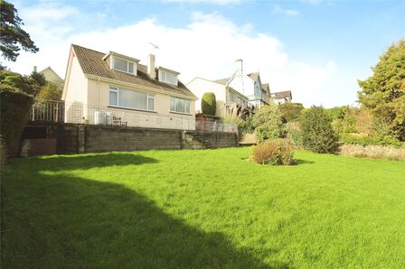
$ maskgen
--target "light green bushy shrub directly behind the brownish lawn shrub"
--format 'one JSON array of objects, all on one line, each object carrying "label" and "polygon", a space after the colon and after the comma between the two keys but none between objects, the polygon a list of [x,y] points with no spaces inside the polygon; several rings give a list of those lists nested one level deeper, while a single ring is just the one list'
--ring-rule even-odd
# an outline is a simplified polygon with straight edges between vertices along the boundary
[{"label": "light green bushy shrub directly behind the brownish lawn shrub", "polygon": [[252,124],[255,126],[259,143],[286,135],[286,128],[278,107],[260,107],[253,116]]}]

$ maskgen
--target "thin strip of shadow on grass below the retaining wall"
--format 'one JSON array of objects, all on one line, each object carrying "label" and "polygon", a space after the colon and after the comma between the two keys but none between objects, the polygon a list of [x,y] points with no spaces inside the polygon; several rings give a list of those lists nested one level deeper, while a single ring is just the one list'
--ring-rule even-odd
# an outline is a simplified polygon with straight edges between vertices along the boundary
[{"label": "thin strip of shadow on grass below the retaining wall", "polygon": [[156,163],[157,160],[137,153],[99,153],[83,155],[54,155],[45,158],[27,159],[28,165],[40,166],[46,171],[68,171],[72,169],[90,169],[94,167],[140,165]]}]

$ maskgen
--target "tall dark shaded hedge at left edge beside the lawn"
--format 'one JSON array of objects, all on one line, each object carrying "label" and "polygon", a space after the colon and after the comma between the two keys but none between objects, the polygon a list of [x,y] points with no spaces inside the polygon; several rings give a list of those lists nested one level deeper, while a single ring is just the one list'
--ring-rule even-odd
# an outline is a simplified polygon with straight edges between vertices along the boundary
[{"label": "tall dark shaded hedge at left edge beside the lawn", "polygon": [[5,139],[7,153],[15,157],[19,153],[20,139],[24,126],[30,116],[33,97],[13,88],[0,84],[1,135]]}]

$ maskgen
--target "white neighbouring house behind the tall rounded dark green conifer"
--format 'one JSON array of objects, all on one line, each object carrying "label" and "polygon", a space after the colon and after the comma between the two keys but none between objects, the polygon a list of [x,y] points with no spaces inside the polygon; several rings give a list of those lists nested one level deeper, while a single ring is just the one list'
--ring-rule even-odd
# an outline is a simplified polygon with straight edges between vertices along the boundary
[{"label": "white neighbouring house behind the tall rounded dark green conifer", "polygon": [[187,83],[187,88],[190,88],[193,94],[198,97],[198,102],[195,103],[195,111],[197,113],[202,113],[201,100],[203,94],[206,92],[213,92],[215,94],[217,101],[215,116],[225,116],[225,111],[228,107],[248,107],[248,97],[218,81],[197,77]]}]

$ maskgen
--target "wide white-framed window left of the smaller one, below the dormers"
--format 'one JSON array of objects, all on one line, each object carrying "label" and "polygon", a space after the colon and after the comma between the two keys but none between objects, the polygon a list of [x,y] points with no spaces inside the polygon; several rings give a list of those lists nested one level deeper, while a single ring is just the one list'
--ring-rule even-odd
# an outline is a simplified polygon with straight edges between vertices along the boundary
[{"label": "wide white-framed window left of the smaller one, below the dormers", "polygon": [[155,96],[125,88],[109,88],[109,105],[115,107],[155,110]]}]

